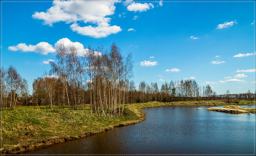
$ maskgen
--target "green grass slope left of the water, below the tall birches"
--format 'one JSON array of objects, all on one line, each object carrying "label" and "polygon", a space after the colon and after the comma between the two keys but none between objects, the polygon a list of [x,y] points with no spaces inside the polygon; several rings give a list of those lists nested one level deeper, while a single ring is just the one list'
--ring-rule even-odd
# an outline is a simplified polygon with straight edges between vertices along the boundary
[{"label": "green grass slope left of the water, below the tall birches", "polygon": [[45,106],[18,106],[15,110],[2,110],[3,147],[46,141],[52,137],[78,136],[96,132],[109,126],[139,120],[127,106],[124,117],[104,117],[88,110],[69,110]]}]

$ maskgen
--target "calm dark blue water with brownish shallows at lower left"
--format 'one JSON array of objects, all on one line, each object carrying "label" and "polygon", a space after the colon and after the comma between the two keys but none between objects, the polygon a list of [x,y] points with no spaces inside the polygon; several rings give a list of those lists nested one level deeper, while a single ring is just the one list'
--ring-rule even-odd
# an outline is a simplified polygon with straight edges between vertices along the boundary
[{"label": "calm dark blue water with brownish shallows at lower left", "polygon": [[138,124],[24,154],[255,155],[255,114],[211,112],[208,107],[143,109],[146,120]]}]

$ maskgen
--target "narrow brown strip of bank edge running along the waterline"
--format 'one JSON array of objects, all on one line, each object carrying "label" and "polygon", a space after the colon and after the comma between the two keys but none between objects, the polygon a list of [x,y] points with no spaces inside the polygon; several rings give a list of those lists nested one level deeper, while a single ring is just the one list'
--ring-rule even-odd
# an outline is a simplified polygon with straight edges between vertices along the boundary
[{"label": "narrow brown strip of bank edge running along the waterline", "polygon": [[[219,105],[220,104],[220,105]],[[140,103],[140,104],[132,104],[134,109],[137,109],[138,111],[138,120],[131,120],[128,122],[121,122],[119,124],[116,125],[110,125],[108,127],[105,128],[100,128],[97,130],[92,130],[91,132],[87,132],[87,133],[82,133],[78,136],[69,136],[69,137],[59,137],[56,136],[56,138],[54,139],[48,139],[46,141],[37,141],[37,142],[32,142],[29,144],[25,144],[25,145],[17,145],[15,147],[12,148],[4,148],[1,149],[1,155],[13,155],[13,154],[19,154],[19,153],[23,153],[23,152],[27,152],[30,150],[34,150],[34,149],[40,149],[40,148],[44,148],[44,147],[48,147],[51,146],[53,144],[58,144],[64,141],[72,141],[75,139],[80,139],[83,137],[87,137],[87,136],[94,136],[97,133],[104,133],[105,131],[108,131],[112,128],[118,128],[118,127],[123,127],[125,125],[134,125],[138,122],[142,122],[144,120],[146,120],[146,113],[143,112],[142,109],[146,109],[146,108],[154,108],[154,107],[160,107],[160,106],[225,106],[225,105],[230,105],[230,104],[226,104],[226,103],[216,103],[216,101],[207,101],[207,102],[203,102],[203,103],[197,103],[197,104],[187,104],[187,102],[169,102],[169,103],[161,103],[161,102],[148,102],[148,103]],[[128,108],[131,109],[131,107],[128,104]],[[136,111],[136,110],[132,110],[132,111]]]}]

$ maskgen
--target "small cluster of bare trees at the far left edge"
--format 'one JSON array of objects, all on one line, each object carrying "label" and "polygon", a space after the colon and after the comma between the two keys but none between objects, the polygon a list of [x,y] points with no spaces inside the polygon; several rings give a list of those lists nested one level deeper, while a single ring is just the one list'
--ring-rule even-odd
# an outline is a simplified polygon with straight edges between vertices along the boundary
[{"label": "small cluster of bare trees at the far left edge", "polygon": [[22,96],[28,102],[29,85],[26,79],[23,79],[13,66],[9,69],[0,69],[1,84],[1,107],[14,109],[19,103],[18,97]]}]

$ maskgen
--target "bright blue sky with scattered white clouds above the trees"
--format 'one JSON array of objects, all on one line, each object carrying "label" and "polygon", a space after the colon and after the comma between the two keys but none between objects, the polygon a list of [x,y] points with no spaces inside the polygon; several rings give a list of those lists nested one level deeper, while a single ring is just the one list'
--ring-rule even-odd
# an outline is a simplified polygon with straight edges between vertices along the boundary
[{"label": "bright blue sky with scattered white clouds above the trees", "polygon": [[217,94],[255,92],[255,1],[1,1],[1,66],[30,89],[61,41],[116,42],[133,54],[137,86],[195,79]]}]

